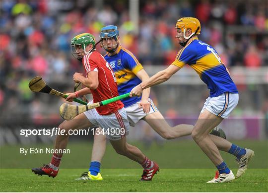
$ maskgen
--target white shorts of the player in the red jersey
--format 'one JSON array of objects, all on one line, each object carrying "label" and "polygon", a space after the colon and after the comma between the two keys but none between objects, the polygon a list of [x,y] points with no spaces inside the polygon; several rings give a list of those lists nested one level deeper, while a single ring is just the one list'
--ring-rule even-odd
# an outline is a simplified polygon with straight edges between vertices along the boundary
[{"label": "white shorts of the player in the red jersey", "polygon": [[130,124],[124,107],[111,115],[100,115],[96,109],[86,111],[84,114],[95,127],[103,129],[110,140],[119,140],[129,134]]}]

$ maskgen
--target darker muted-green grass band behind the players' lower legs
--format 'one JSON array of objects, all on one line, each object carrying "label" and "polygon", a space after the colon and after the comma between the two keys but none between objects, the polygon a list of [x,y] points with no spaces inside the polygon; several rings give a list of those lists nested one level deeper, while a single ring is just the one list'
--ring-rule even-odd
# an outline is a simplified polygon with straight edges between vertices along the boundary
[{"label": "darker muted-green grass band behind the players' lower legs", "polygon": [[[262,169],[268,168],[268,141],[235,141],[237,145],[248,147],[255,151],[255,157],[250,168]],[[165,141],[161,146],[155,143],[150,148],[144,148],[142,142],[131,142],[141,149],[141,151],[150,159],[156,161],[161,168],[176,169],[213,169],[211,161],[201,151],[199,146],[192,140],[172,140]],[[20,147],[46,148],[53,147],[53,144],[34,144],[34,145],[14,145],[0,147],[0,168],[32,168],[39,167],[41,164],[49,163],[51,154],[20,154]],[[92,143],[88,142],[70,142],[67,146],[70,154],[65,154],[61,162],[61,168],[87,168],[91,158]],[[234,156],[226,152],[221,152],[224,161],[231,168],[236,168]],[[75,164],[73,164],[75,163]],[[102,168],[140,168],[134,161],[118,155],[107,143],[107,149],[102,160]]]}]

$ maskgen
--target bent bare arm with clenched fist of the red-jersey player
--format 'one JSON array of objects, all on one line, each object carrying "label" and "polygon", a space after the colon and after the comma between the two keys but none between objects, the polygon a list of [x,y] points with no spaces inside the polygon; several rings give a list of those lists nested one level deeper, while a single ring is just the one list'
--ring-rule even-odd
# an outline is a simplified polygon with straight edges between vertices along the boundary
[{"label": "bent bare arm with clenched fist of the red-jersey player", "polygon": [[96,90],[99,86],[98,72],[96,71],[88,72],[87,77],[85,77],[82,73],[75,72],[73,74],[73,80],[74,82],[81,82],[87,88],[92,90]]}]

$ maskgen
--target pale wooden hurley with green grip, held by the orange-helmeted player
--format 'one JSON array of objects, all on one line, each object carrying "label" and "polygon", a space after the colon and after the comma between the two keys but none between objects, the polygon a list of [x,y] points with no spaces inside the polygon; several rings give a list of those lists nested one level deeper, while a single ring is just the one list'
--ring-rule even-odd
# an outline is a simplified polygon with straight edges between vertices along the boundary
[{"label": "pale wooden hurley with green grip, held by the orange-helmeted player", "polygon": [[130,96],[130,93],[126,93],[111,99],[107,99],[98,103],[93,103],[93,104],[88,104],[88,105],[80,105],[80,106],[75,106],[75,105],[69,105],[67,103],[64,103],[60,107],[60,114],[62,118],[65,120],[72,120],[75,118],[77,115],[86,112],[90,109],[94,109],[103,105],[108,105],[110,103],[113,103],[115,101],[127,98]]}]

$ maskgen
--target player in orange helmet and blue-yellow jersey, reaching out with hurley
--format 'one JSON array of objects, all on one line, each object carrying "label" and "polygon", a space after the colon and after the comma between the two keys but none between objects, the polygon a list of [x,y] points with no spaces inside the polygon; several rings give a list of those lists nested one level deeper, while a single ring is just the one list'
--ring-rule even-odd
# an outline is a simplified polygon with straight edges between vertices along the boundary
[{"label": "player in orange helmet and blue-yellow jersey, reaching out with hurley", "polygon": [[[198,39],[201,24],[197,18],[183,17],[179,19],[176,23],[176,30],[176,38],[183,49],[178,52],[175,61],[166,69],[142,81],[131,91],[131,96],[140,96],[143,89],[167,81],[185,64],[190,65],[210,90],[210,96],[206,99],[192,131],[193,139],[218,169],[215,177],[207,183],[232,181],[235,176],[223,161],[219,150],[236,156],[239,165],[236,178],[245,172],[248,162],[254,156],[254,151],[239,147],[226,139],[209,136],[208,133],[223,119],[228,118],[236,107],[238,103],[236,85],[217,52]],[[211,137],[216,140],[211,140]]]}]

